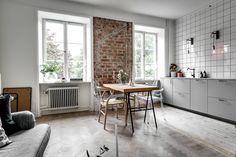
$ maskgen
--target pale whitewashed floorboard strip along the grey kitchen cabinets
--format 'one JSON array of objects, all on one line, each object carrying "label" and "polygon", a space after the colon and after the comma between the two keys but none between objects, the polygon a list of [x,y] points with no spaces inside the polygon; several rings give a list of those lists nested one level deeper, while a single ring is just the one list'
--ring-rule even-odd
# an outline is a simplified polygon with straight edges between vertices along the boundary
[{"label": "pale whitewashed floorboard strip along the grey kitchen cabinets", "polygon": [[172,107],[165,107],[164,113],[166,120],[161,111],[157,110],[157,117],[161,124],[175,128],[228,156],[236,156],[234,125]]}]

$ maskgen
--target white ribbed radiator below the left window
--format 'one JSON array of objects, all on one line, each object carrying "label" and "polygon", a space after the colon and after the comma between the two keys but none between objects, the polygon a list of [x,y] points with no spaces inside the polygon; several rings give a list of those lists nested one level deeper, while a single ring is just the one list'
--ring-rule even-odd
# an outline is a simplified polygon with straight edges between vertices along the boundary
[{"label": "white ribbed radiator below the left window", "polygon": [[50,110],[69,109],[79,106],[79,87],[48,88]]}]

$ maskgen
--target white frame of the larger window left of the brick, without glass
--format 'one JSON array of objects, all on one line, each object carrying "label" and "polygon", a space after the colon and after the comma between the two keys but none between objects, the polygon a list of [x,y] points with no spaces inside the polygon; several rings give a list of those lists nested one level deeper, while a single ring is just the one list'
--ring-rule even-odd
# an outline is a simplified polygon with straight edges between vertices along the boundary
[{"label": "white frame of the larger window left of the brick, without glass", "polygon": [[[69,69],[68,69],[68,32],[67,32],[67,26],[68,24],[70,25],[79,25],[79,26],[83,26],[84,29],[84,45],[83,45],[83,49],[84,49],[84,54],[83,54],[83,80],[85,80],[85,78],[87,78],[87,33],[86,33],[86,24],[83,23],[79,23],[79,22],[70,22],[70,21],[63,21],[63,20],[55,20],[55,19],[50,19],[50,18],[43,18],[42,19],[42,37],[43,37],[43,60],[42,62],[44,63],[46,61],[46,57],[45,55],[47,54],[47,47],[46,47],[46,22],[55,22],[55,23],[61,23],[63,24],[63,33],[64,33],[64,67],[63,67],[63,77],[65,77],[66,79],[70,79],[69,78]],[[78,78],[73,78],[73,79],[78,79]],[[80,78],[79,78],[80,79]]]}]

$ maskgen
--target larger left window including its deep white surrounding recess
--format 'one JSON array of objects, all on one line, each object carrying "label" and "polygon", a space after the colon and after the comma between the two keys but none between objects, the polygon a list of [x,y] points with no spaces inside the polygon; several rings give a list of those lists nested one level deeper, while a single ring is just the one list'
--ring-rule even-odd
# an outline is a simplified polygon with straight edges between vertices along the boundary
[{"label": "larger left window including its deep white surrounding recess", "polygon": [[90,18],[39,11],[38,19],[39,69],[55,65],[58,79],[91,81]]}]

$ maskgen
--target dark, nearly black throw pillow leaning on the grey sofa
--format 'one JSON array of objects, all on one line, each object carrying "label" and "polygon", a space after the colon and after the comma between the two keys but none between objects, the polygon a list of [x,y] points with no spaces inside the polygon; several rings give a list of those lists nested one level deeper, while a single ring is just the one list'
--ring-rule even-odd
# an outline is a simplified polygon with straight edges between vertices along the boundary
[{"label": "dark, nearly black throw pillow leaning on the grey sofa", "polygon": [[12,120],[10,97],[10,95],[0,96],[0,116],[2,127],[4,128],[7,135],[11,135],[19,131],[16,123]]}]

